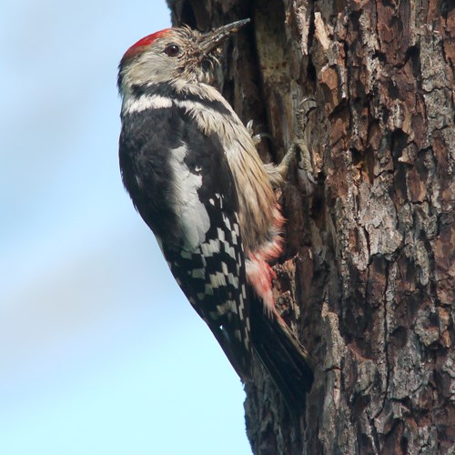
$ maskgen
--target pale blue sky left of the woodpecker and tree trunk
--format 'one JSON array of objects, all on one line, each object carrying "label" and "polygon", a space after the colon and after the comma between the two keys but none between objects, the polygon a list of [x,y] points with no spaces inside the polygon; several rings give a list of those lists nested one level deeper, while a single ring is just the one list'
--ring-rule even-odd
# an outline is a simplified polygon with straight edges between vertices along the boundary
[{"label": "pale blue sky left of the woodpecker and tree trunk", "polygon": [[248,455],[241,383],[121,185],[116,66],[160,1],[4,3],[0,454]]}]

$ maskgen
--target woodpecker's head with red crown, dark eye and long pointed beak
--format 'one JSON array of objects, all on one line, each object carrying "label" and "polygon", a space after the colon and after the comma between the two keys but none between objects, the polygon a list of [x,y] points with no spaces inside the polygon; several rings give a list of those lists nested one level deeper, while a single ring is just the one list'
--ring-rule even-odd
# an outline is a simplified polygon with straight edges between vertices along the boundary
[{"label": "woodpecker's head with red crown, dark eye and long pointed beak", "polygon": [[172,82],[206,82],[218,47],[248,24],[244,19],[201,34],[187,26],[161,30],[132,45],[118,66],[118,89],[125,95],[133,86]]}]

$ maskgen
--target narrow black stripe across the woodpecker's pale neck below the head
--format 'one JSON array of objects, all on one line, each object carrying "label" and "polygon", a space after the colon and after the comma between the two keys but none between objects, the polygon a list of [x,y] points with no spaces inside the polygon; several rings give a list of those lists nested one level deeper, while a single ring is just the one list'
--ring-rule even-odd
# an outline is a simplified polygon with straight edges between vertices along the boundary
[{"label": "narrow black stripe across the woodpecker's pale neck below the head", "polygon": [[207,99],[200,95],[195,95],[189,92],[178,92],[175,87],[171,86],[167,82],[159,82],[158,84],[141,84],[138,86],[132,86],[133,95],[136,97],[140,96],[165,96],[167,98],[175,99],[177,101],[192,101],[199,103],[207,108],[216,110],[217,112],[231,116],[229,109],[223,105],[220,101],[215,99]]}]

